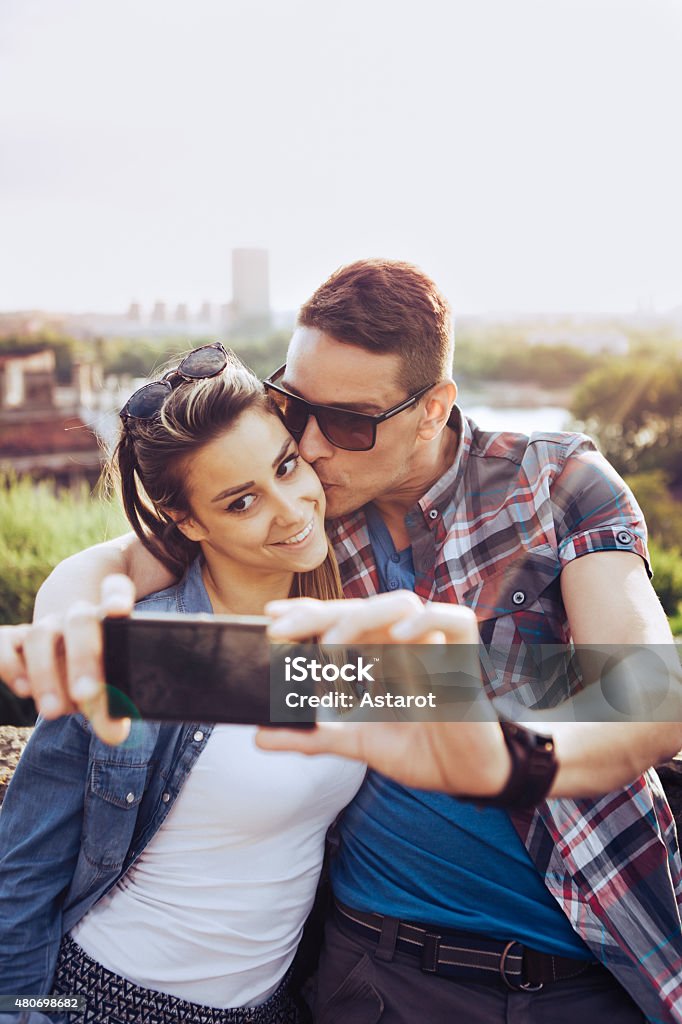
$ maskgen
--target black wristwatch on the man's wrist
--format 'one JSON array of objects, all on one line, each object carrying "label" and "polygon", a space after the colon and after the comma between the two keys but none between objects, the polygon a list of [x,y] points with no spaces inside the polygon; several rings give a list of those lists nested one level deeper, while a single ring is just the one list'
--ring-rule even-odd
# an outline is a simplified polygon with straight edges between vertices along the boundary
[{"label": "black wristwatch on the man's wrist", "polygon": [[552,788],[559,765],[551,736],[532,732],[518,722],[501,721],[500,728],[511,756],[511,774],[494,797],[464,798],[485,807],[526,810],[537,807]]}]

